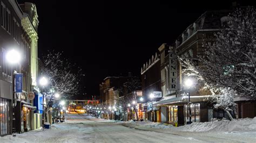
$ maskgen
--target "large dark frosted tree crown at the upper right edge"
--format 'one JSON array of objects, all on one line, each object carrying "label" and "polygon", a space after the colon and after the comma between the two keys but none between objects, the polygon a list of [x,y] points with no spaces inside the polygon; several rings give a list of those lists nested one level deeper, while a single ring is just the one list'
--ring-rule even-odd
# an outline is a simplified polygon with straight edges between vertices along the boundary
[{"label": "large dark frosted tree crown at the upper right edge", "polygon": [[200,75],[211,86],[230,88],[238,96],[256,99],[255,9],[237,9],[226,17],[216,40],[204,45]]}]

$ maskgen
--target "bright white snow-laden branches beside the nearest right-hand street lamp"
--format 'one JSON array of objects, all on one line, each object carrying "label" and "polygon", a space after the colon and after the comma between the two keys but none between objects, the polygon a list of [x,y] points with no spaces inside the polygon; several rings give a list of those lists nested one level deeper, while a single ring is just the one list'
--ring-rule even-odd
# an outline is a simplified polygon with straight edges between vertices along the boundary
[{"label": "bright white snow-laden branches beside the nearest right-hand street lamp", "polygon": [[208,90],[211,92],[211,102],[214,104],[215,109],[221,109],[227,112],[227,115],[231,120],[233,119],[231,112],[237,116],[237,112],[235,110],[236,105],[234,103],[234,97],[236,94],[234,90],[208,84],[208,82],[211,81],[205,80],[205,78],[200,74],[201,69],[200,66],[198,66],[199,60],[197,58],[191,58],[185,53],[183,56],[178,56],[178,60],[183,67],[181,71],[183,76],[193,78],[197,83],[197,90]]}]

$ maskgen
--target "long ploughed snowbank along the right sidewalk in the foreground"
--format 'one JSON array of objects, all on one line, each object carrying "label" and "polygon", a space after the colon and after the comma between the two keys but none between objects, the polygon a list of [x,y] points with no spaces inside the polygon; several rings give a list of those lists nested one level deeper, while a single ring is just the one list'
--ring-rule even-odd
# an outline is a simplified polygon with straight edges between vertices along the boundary
[{"label": "long ploughed snowbank along the right sidewalk in the foreground", "polygon": [[256,131],[256,117],[230,120],[215,120],[204,123],[192,123],[177,127],[181,131]]}]

